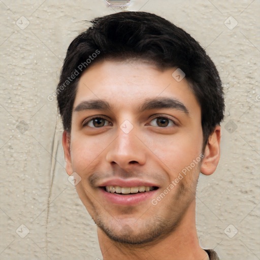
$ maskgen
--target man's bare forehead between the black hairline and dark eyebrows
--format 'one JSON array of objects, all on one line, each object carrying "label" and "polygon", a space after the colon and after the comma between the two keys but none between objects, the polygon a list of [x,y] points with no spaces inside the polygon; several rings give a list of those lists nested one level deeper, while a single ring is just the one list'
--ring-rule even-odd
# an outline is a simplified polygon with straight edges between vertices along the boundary
[{"label": "man's bare forehead between the black hairline and dark eyebrows", "polygon": [[168,97],[184,103],[188,110],[200,106],[187,80],[177,81],[176,68],[159,70],[141,60],[104,60],[92,64],[78,82],[74,109],[88,100],[106,100],[115,110],[140,110],[145,100]]}]

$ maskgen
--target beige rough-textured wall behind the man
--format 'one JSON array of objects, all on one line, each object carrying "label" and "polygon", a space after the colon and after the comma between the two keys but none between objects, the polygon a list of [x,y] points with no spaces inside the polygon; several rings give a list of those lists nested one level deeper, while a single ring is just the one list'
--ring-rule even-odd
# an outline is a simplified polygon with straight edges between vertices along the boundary
[{"label": "beige rough-textured wall behind the man", "polygon": [[[221,160],[200,177],[198,235],[222,259],[260,259],[259,0],[134,0],[128,10],[173,21],[216,63],[226,94]],[[0,259],[102,259],[64,170],[62,127],[47,96],[84,20],[115,11],[103,0],[0,1]]]}]

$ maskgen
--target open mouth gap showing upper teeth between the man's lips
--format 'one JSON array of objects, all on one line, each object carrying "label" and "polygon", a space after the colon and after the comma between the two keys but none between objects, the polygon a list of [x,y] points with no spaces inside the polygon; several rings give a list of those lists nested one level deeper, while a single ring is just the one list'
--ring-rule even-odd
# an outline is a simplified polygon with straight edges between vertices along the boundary
[{"label": "open mouth gap showing upper teeth between the man's lips", "polygon": [[108,193],[116,193],[120,195],[150,192],[152,190],[158,189],[158,187],[156,186],[135,186],[135,187],[103,186],[101,188],[103,188]]}]

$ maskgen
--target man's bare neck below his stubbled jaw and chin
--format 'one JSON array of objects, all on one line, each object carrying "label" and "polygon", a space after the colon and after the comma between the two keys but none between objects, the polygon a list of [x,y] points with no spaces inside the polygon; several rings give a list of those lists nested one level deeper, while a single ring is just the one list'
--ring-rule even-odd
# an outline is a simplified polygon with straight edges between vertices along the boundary
[{"label": "man's bare neck below his stubbled jaw and chin", "polygon": [[140,245],[111,240],[100,228],[98,237],[104,260],[208,260],[200,247],[195,224],[195,201],[190,204],[178,228],[164,237]]}]

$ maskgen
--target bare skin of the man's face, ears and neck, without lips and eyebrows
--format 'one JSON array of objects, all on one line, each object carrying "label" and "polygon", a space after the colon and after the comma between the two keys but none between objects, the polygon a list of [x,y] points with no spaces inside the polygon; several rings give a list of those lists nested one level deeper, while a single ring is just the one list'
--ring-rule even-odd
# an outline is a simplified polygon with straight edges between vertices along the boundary
[{"label": "bare skin of the man's face, ears and neck, without lips and eyebrows", "polygon": [[[91,99],[105,100],[112,107],[73,111],[71,133],[64,131],[62,138],[66,171],[81,177],[76,189],[98,225],[105,260],[115,255],[122,260],[208,259],[197,237],[195,193],[199,173],[210,175],[217,167],[220,126],[202,151],[201,108],[186,79],[177,82],[172,77],[175,70],[159,70],[141,60],[104,60],[92,64],[79,80],[74,109]],[[169,97],[189,114],[172,108],[138,110],[146,99]],[[102,127],[88,121],[101,115]],[[159,116],[168,117],[169,124],[161,126]],[[128,134],[120,128],[125,120],[134,127]],[[202,152],[203,160],[156,206],[150,200],[115,205],[98,187],[112,177],[151,181],[159,186],[151,198],[156,199]]]}]

